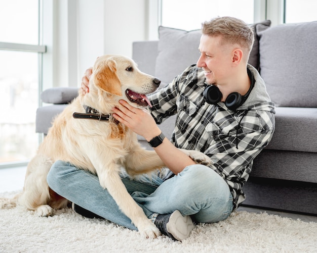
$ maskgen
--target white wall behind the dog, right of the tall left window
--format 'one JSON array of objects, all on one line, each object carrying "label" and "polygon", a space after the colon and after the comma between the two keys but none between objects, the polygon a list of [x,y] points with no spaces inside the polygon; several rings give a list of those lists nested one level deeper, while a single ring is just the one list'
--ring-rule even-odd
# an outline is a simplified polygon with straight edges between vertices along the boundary
[{"label": "white wall behind the dog, right of the tall left window", "polygon": [[48,49],[43,58],[43,89],[79,87],[85,70],[98,56],[132,57],[133,41],[157,38],[157,14],[147,11],[156,12],[157,0],[43,2],[43,43]]}]

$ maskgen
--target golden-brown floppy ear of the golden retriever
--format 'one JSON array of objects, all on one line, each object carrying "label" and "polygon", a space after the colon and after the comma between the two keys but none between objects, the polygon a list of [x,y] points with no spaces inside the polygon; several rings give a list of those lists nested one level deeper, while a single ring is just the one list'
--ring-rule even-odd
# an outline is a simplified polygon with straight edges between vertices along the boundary
[{"label": "golden-brown floppy ear of the golden retriever", "polygon": [[107,60],[99,63],[95,68],[95,84],[104,91],[122,96],[121,82],[116,74],[116,63]]}]

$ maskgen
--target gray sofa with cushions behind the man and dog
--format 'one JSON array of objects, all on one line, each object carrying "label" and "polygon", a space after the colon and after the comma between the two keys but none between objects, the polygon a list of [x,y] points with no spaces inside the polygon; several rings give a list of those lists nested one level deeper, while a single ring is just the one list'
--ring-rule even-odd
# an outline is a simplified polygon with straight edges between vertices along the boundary
[{"label": "gray sofa with cushions behind the man and dog", "polygon": [[[254,160],[243,205],[317,215],[317,22],[270,27],[264,21],[253,29],[249,63],[266,82],[276,123],[270,144]],[[201,32],[160,27],[159,33],[158,41],[134,42],[133,59],[165,85],[196,62]],[[45,90],[43,102],[53,105],[38,108],[36,132],[46,134],[53,116],[76,93],[76,88]],[[160,125],[167,136],[174,122],[171,117]],[[139,141],[149,148],[140,136]]]}]

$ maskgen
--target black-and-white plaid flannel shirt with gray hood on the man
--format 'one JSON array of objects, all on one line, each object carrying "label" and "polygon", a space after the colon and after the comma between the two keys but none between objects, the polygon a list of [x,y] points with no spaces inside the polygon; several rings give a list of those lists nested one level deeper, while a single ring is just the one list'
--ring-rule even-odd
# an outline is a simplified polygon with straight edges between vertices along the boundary
[{"label": "black-and-white plaid flannel shirt with gray hood on the man", "polygon": [[[255,78],[253,97],[257,89],[267,95],[258,72],[250,65],[248,68]],[[192,65],[149,96],[152,104],[149,110],[157,124],[177,114],[172,143],[209,156],[213,163],[210,168],[227,182],[237,208],[245,199],[242,187],[249,178],[253,159],[274,132],[274,104],[268,95],[264,101],[260,98],[250,101],[250,94],[244,105],[231,111],[222,102],[206,103],[203,96],[206,86],[204,71]]]}]

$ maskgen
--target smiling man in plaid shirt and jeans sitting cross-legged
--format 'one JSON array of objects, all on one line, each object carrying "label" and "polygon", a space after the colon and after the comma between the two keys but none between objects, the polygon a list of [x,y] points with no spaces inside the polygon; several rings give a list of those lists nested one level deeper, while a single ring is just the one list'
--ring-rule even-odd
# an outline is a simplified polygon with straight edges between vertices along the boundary
[{"label": "smiling man in plaid shirt and jeans sitting cross-legged", "polygon": [[[152,108],[136,109],[121,100],[113,109],[116,120],[154,141],[154,150],[169,169],[165,176],[130,180],[123,174],[122,180],[147,217],[176,240],[189,236],[192,220],[224,220],[242,203],[253,159],[274,131],[274,105],[259,73],[248,65],[252,30],[239,19],[218,17],[203,23],[202,32],[197,64],[152,93]],[[89,92],[90,74],[91,69],[83,77],[83,92]],[[168,140],[156,124],[173,114],[176,126]],[[178,148],[199,150],[212,163],[197,165]],[[136,229],[96,176],[56,162],[48,183],[76,204],[76,212],[92,212]]]}]

